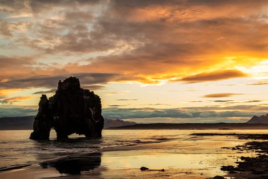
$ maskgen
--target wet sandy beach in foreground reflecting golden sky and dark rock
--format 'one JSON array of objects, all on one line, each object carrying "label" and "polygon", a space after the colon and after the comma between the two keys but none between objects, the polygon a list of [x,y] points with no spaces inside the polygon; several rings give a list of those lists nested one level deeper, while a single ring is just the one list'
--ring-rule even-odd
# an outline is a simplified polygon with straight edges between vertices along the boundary
[{"label": "wet sandy beach in foreground reflecting golden sky and dark rock", "polygon": [[[252,139],[208,133],[184,140],[107,147],[100,152],[72,155],[57,160],[0,172],[0,178],[248,178],[251,171],[229,174],[222,166],[236,166],[241,157],[256,157],[255,150],[235,148]],[[149,170],[141,171],[141,167]],[[164,171],[161,171],[164,169]],[[260,174],[252,175],[257,178]]]}]

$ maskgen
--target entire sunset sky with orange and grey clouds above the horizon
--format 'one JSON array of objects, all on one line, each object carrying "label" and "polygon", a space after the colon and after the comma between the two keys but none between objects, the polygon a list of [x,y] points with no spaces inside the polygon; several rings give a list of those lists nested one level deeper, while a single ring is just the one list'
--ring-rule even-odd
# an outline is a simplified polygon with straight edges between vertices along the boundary
[{"label": "entire sunset sky with orange and grey clouds above the horizon", "polygon": [[80,79],[102,114],[246,122],[268,109],[268,1],[0,1],[0,117]]}]

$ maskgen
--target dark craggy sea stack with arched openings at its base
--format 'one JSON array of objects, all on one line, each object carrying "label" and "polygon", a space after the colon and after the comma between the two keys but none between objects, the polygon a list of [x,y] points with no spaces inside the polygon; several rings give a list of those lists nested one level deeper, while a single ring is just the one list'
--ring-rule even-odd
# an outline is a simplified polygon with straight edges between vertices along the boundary
[{"label": "dark craggy sea stack with arched openings at its base", "polygon": [[68,138],[72,133],[101,137],[103,125],[99,96],[81,88],[78,78],[69,77],[59,81],[53,97],[41,96],[30,139],[48,140],[51,127],[57,138]]}]

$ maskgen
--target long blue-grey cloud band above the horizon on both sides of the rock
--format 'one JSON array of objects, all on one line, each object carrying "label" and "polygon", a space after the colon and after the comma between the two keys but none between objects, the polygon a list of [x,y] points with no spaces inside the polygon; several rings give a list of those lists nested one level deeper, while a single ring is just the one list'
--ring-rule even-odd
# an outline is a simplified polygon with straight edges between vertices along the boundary
[{"label": "long blue-grey cloud band above the horizon on both sides of the rock", "polygon": [[[252,116],[266,114],[267,106],[235,105],[185,108],[120,108],[110,105],[102,109],[105,118],[127,119],[141,123],[149,122],[247,122]],[[36,115],[37,107],[0,106],[2,116]]]}]

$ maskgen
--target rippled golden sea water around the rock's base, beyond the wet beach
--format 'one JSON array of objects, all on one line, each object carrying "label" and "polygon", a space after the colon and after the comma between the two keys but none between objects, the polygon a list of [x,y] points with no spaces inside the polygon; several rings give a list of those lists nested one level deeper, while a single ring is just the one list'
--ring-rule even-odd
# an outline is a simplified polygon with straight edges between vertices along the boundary
[{"label": "rippled golden sea water around the rock's base, beyond the wet beach", "polygon": [[268,133],[268,130],[103,130],[101,139],[71,135],[65,140],[57,140],[56,133],[52,130],[50,141],[30,140],[31,132],[32,130],[0,130],[0,169],[98,152],[107,147],[153,144],[167,140],[184,141],[196,132]]}]

